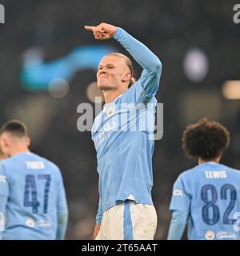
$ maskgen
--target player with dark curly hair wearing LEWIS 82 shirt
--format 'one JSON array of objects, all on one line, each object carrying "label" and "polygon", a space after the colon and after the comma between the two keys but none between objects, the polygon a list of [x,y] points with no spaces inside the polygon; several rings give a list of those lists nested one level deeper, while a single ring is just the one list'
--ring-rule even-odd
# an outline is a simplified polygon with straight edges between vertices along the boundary
[{"label": "player with dark curly hair wearing LEWIS 82 shirt", "polygon": [[218,122],[203,118],[186,127],[183,149],[198,158],[198,166],[174,183],[169,240],[182,238],[186,222],[189,239],[240,238],[240,172],[219,163],[229,142],[228,130]]}]

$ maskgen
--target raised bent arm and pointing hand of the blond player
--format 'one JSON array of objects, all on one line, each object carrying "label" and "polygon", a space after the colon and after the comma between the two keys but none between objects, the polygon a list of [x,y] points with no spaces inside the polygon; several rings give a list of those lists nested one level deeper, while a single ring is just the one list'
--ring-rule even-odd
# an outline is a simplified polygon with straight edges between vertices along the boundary
[{"label": "raised bent arm and pointing hand of the blond player", "polygon": [[120,42],[136,62],[142,66],[142,74],[138,81],[146,91],[146,94],[149,96],[156,94],[162,74],[162,62],[151,50],[117,26],[101,23],[98,26],[85,26],[85,28],[86,30],[91,30],[96,39],[115,38]]}]

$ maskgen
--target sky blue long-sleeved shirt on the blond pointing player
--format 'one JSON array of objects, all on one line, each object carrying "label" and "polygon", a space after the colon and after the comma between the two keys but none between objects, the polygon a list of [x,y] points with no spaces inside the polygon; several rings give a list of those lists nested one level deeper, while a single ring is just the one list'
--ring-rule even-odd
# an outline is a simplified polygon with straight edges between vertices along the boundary
[{"label": "sky blue long-sleeved shirt on the blond pointing player", "polygon": [[143,68],[130,89],[107,104],[94,119],[92,139],[97,151],[99,206],[96,222],[118,200],[134,195],[152,205],[154,114],[162,63],[146,46],[118,28],[114,38]]}]

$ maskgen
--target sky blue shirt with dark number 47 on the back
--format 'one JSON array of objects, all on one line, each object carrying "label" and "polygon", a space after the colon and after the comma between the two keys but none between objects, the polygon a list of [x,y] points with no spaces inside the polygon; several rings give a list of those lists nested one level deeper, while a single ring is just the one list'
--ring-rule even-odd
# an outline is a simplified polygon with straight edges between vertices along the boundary
[{"label": "sky blue shirt with dark number 47 on the back", "polygon": [[37,154],[0,162],[0,195],[7,197],[2,239],[56,239],[58,216],[67,213],[62,174]]}]

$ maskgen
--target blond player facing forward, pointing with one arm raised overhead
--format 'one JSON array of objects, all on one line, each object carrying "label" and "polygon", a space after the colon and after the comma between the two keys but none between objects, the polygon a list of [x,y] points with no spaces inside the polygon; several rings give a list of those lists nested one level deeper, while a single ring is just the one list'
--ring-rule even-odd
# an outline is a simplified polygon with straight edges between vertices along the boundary
[{"label": "blond player facing forward, pointing with one arm raised overhead", "polygon": [[153,239],[157,214],[153,186],[154,114],[162,63],[120,27],[85,26],[96,39],[114,38],[142,66],[138,81],[130,59],[107,54],[98,66],[98,88],[105,106],[94,119],[99,205],[94,239]]}]

